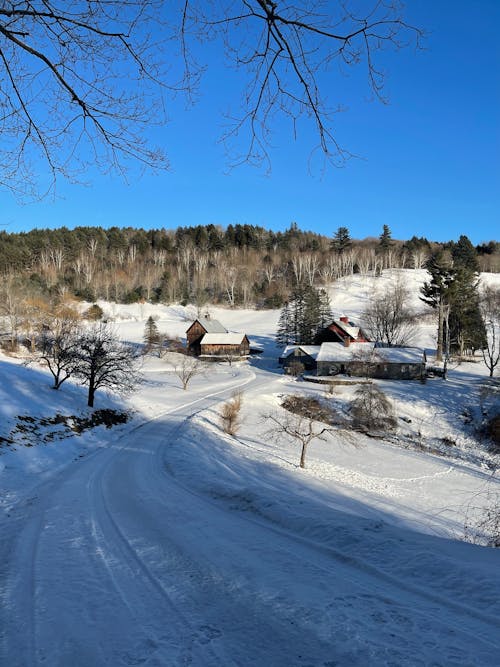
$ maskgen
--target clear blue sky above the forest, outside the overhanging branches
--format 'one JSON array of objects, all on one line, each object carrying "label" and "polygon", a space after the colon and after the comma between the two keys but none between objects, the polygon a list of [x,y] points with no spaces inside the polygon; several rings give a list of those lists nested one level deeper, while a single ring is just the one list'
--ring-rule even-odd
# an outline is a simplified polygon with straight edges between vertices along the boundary
[{"label": "clear blue sky above the forest, outside the overhanging branches", "polygon": [[[0,224],[34,227],[167,227],[230,223],[354,238],[430,240],[466,234],[475,244],[500,239],[499,0],[408,0],[406,17],[429,34],[425,51],[385,56],[389,105],[369,100],[359,74],[326,82],[330,100],[347,107],[336,137],[360,159],[342,169],[310,160],[313,128],[276,127],[272,171],[244,166],[228,173],[218,143],[234,85],[214,52],[197,105],[169,108],[156,140],[171,171],[160,175],[89,174],[89,185],[59,181],[56,199],[28,205],[0,193]],[[330,92],[331,88],[331,92]]]}]

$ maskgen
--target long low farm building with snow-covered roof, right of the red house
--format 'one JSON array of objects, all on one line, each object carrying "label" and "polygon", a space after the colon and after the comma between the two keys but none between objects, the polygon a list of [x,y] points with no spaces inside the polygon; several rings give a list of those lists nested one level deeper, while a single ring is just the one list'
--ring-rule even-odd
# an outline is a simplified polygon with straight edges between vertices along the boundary
[{"label": "long low farm building with snow-covered roof, right of the red house", "polygon": [[317,375],[420,380],[425,376],[425,362],[425,351],[417,347],[323,343],[317,357]]}]

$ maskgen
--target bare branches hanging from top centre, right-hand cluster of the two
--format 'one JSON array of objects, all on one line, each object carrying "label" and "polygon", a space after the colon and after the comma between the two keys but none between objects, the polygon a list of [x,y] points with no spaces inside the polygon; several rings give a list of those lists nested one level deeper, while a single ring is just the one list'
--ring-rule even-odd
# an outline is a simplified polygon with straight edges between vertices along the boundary
[{"label": "bare branches hanging from top centre, right-hand cluster of the two", "polygon": [[399,49],[408,38],[419,44],[422,32],[409,26],[399,2],[372,2],[361,16],[353,3],[300,4],[274,0],[243,2],[194,2],[185,0],[181,40],[186,48],[186,72],[191,72],[189,37],[214,37],[225,45],[232,66],[242,70],[244,86],[241,109],[229,119],[224,139],[241,133],[249,137],[247,150],[233,163],[269,163],[271,125],[284,116],[297,127],[300,117],[309,118],[316,129],[318,149],[336,164],[350,157],[332,131],[341,110],[327,102],[320,79],[332,76],[334,63],[340,70],[362,64],[373,95],[384,97],[384,75],[375,62],[379,49]]}]

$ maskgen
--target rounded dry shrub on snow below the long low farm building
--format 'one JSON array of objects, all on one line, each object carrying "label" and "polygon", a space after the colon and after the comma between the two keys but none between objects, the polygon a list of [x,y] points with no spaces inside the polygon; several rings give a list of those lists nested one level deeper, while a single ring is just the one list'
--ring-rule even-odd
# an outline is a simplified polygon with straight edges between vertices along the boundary
[{"label": "rounded dry shrub on snow below the long low farm building", "polygon": [[353,425],[363,431],[391,431],[396,427],[392,402],[375,384],[356,389],[351,405]]}]

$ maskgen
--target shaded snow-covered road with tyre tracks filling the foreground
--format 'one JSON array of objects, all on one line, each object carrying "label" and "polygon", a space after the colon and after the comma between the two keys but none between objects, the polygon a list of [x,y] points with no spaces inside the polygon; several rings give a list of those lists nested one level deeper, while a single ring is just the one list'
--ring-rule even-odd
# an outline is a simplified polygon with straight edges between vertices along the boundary
[{"label": "shaded snow-covered road with tyre tracks filling the foreground", "polygon": [[[321,498],[309,506],[286,473],[217,449],[203,418],[218,400],[143,424],[13,508],[0,664],[498,664],[493,552],[326,503],[318,516]],[[460,590],[469,566],[474,590]]]}]

